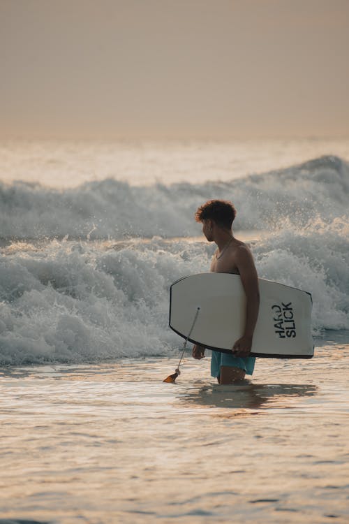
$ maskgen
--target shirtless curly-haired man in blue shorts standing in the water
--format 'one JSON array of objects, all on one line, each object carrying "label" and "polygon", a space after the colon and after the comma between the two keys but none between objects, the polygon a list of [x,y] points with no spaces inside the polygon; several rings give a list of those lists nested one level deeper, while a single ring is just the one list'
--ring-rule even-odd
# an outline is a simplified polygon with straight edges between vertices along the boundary
[{"label": "shirtless curly-haired man in blue shorts standing in the water", "polygon": [[[219,384],[232,384],[244,379],[246,373],[253,373],[255,365],[255,357],[249,354],[260,303],[258,276],[250,249],[232,233],[235,216],[234,205],[221,200],[208,201],[195,213],[195,220],[202,222],[202,232],[207,240],[217,245],[211,271],[240,275],[247,299],[244,333],[234,344],[232,340],[232,354],[212,351],[211,375],[218,379]],[[193,358],[200,360],[204,356],[205,347],[196,344]]]}]

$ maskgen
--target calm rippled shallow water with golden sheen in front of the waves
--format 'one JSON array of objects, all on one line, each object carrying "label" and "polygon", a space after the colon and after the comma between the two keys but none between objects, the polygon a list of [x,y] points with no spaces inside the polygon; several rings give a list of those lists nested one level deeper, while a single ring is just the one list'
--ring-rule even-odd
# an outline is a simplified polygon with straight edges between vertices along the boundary
[{"label": "calm rippled shallow water with golden sheen in front of the waves", "polygon": [[0,370],[0,522],[347,523],[348,338],[234,386],[209,358],[163,384],[177,355]]}]

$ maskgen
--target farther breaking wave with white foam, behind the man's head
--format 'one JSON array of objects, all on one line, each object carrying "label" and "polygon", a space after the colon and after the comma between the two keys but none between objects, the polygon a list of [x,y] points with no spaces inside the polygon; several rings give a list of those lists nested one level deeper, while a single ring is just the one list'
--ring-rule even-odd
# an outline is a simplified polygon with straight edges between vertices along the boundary
[{"label": "farther breaking wave with white foam, behind the man's head", "polygon": [[302,227],[318,214],[331,221],[348,213],[349,166],[322,157],[231,182],[133,187],[103,180],[65,191],[15,182],[0,184],[0,191],[6,240],[170,238],[198,234],[193,214],[209,198],[232,200],[242,229],[279,228],[287,218]]}]

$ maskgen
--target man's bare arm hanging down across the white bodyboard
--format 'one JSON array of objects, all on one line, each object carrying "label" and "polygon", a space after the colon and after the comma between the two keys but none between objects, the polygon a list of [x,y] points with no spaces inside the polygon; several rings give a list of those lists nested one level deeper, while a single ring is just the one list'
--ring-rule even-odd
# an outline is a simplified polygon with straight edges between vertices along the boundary
[{"label": "man's bare arm hanging down across the white bodyboard", "polygon": [[235,356],[248,356],[251,352],[253,332],[258,318],[260,293],[258,275],[250,250],[246,246],[238,247],[235,252],[235,265],[240,273],[242,286],[246,294],[246,323],[244,334],[232,347]]}]

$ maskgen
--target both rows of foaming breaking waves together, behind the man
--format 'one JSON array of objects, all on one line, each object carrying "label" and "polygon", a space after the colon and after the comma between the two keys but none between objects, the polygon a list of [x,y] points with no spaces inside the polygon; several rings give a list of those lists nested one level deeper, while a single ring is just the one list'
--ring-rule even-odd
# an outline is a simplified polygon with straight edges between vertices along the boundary
[{"label": "both rows of foaming breaking waves together, behind the man", "polygon": [[240,228],[263,230],[251,242],[260,277],[312,293],[313,334],[349,329],[348,166],[339,159],[229,184],[2,189],[1,365],[177,355],[170,284],[208,270],[214,245],[183,235],[198,235],[193,213],[214,197],[234,198]]}]

